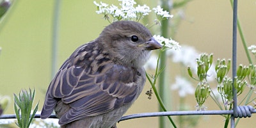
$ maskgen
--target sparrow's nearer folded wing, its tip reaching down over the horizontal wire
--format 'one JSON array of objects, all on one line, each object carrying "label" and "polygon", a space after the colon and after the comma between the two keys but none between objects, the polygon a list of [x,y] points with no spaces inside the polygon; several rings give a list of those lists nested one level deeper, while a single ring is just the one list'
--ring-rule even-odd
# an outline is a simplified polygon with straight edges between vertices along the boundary
[{"label": "sparrow's nearer folded wing, its tip reaching down over the horizontal wire", "polygon": [[120,65],[109,64],[106,67],[108,69],[104,73],[92,75],[84,72],[74,90],[61,99],[65,104],[69,104],[70,110],[61,116],[60,124],[97,116],[135,99],[138,91],[138,72]]}]

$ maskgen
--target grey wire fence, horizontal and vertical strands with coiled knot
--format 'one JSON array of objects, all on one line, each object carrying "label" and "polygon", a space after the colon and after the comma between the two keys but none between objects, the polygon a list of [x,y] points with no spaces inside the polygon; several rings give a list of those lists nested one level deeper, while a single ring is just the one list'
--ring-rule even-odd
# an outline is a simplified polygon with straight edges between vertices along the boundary
[{"label": "grey wire fence, horizontal and vertical strands with coiled knot", "polygon": [[[232,32],[232,78],[236,77],[236,59],[237,59],[237,0],[234,0],[233,4],[233,32]],[[55,47],[55,46],[54,46]],[[54,57],[53,57],[54,58]],[[234,109],[232,110],[212,110],[212,111],[164,111],[153,113],[137,113],[134,115],[123,116],[121,121],[130,120],[133,118],[145,118],[152,116],[180,116],[180,115],[231,115],[230,127],[235,127],[235,118],[246,118],[252,116],[252,113],[256,113],[256,109],[252,106],[237,106],[237,93],[233,86],[233,100]],[[1,115],[0,119],[16,118],[15,115]],[[35,118],[40,118],[39,114],[35,115]],[[52,114],[49,118],[57,118]]]}]

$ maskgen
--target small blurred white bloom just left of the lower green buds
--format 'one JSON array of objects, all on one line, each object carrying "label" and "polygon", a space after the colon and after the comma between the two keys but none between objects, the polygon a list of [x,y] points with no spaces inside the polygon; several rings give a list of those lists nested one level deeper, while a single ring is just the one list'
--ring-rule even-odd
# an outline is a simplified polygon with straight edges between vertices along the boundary
[{"label": "small blurred white bloom just left of the lower green buds", "polygon": [[171,85],[171,89],[178,90],[180,97],[186,97],[186,95],[195,92],[195,88],[193,88],[192,84],[187,79],[180,76],[175,77],[175,83]]}]

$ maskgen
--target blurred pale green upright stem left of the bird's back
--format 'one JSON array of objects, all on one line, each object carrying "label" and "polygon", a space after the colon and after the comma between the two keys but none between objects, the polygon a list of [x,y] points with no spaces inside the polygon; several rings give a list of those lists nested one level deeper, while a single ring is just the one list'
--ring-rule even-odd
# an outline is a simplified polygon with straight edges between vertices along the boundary
[{"label": "blurred pale green upright stem left of the bird's back", "polygon": [[51,61],[51,78],[56,74],[58,62],[58,30],[59,30],[59,17],[60,17],[60,0],[55,0],[54,14],[52,21],[52,61]]}]

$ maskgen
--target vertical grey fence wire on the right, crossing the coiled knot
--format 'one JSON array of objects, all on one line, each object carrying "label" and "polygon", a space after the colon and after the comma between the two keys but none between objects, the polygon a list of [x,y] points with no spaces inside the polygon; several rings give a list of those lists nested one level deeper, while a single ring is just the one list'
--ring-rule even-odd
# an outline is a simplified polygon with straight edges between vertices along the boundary
[{"label": "vertical grey fence wire on the right, crossing the coiled knot", "polygon": [[232,35],[232,92],[234,100],[234,114],[231,115],[230,127],[235,127],[235,117],[237,117],[237,92],[234,86],[234,78],[236,77],[237,62],[237,0],[233,3],[233,35]]}]

